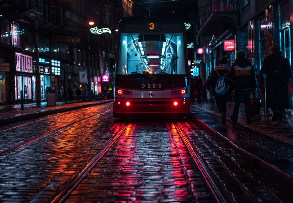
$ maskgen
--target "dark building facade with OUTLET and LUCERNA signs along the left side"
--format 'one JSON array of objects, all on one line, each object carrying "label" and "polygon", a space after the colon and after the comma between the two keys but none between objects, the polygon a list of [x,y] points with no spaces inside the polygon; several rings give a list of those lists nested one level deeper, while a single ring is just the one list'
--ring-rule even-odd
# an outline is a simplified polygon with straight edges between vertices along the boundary
[{"label": "dark building facade with OUTLET and LUCERNA signs along the left side", "polygon": [[109,92],[124,14],[122,0],[1,1],[0,104],[46,101],[49,89],[60,101],[78,86],[87,100]]}]

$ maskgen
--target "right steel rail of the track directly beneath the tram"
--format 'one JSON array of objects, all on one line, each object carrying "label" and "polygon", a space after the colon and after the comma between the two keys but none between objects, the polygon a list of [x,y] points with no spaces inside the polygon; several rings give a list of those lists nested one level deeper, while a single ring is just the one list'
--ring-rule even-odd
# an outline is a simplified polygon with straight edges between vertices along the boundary
[{"label": "right steel rail of the track directly beneath the tram", "polygon": [[202,176],[206,180],[206,183],[208,187],[211,189],[211,192],[213,193],[215,199],[219,203],[228,203],[233,202],[231,200],[231,197],[227,194],[227,192],[223,189],[223,186],[220,184],[220,182],[217,180],[217,178],[214,177],[211,170],[206,166],[198,152],[196,152],[189,141],[188,137],[185,135],[185,133],[182,131],[181,127],[178,123],[174,123],[174,126],[176,130],[178,131],[181,139],[183,140],[185,146],[189,150],[190,155],[192,156],[194,162],[198,166],[199,171],[202,173]]}]

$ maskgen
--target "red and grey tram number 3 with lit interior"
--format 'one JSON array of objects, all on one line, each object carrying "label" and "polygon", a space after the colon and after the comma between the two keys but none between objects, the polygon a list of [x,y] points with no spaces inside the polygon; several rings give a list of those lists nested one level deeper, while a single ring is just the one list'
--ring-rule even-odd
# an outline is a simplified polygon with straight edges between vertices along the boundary
[{"label": "red and grey tram number 3 with lit interior", "polygon": [[188,116],[189,69],[182,21],[124,17],[117,40],[113,117]]}]

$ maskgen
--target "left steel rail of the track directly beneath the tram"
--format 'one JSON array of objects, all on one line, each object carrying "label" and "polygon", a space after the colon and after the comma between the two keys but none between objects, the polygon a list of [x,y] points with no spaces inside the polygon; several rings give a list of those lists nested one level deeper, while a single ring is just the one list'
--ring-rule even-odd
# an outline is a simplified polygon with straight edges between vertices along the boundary
[{"label": "left steel rail of the track directly beneath the tram", "polygon": [[63,202],[66,200],[67,196],[75,189],[75,187],[82,181],[82,179],[91,171],[91,169],[100,161],[104,154],[109,150],[109,148],[114,144],[114,142],[122,135],[125,131],[127,123],[119,129],[119,131],[111,138],[111,140],[90,160],[90,162],[78,173],[76,174],[62,189],[62,191],[54,197],[51,203]]}]

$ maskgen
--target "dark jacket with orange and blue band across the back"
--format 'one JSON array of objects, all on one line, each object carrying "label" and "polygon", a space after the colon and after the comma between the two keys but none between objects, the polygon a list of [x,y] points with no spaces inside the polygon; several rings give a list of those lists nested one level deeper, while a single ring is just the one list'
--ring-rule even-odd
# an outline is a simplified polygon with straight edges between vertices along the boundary
[{"label": "dark jacket with orange and blue band across the back", "polygon": [[231,67],[231,76],[234,81],[234,90],[256,88],[255,73],[246,58],[236,58]]}]

